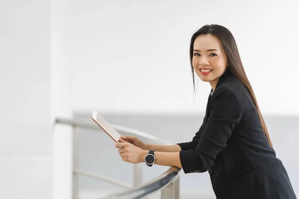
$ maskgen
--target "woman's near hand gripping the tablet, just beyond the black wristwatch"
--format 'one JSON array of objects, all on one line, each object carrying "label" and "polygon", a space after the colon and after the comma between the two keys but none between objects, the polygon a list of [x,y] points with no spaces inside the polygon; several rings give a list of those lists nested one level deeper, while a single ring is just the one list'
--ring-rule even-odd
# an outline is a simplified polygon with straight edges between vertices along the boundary
[{"label": "woman's near hand gripping the tablet, just beyond the black wristwatch", "polygon": [[120,142],[116,143],[115,147],[120,148],[118,152],[120,153],[120,156],[122,157],[123,161],[134,163],[134,164],[145,161],[144,159],[148,154],[148,151],[143,150],[137,146],[134,146],[133,144],[126,142],[122,138],[120,138],[119,141]]}]

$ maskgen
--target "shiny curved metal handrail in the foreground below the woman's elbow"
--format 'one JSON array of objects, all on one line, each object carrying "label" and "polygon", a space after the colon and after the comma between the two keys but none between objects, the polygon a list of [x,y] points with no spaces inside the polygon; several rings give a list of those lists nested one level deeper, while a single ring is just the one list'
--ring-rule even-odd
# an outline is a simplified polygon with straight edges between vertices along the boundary
[{"label": "shiny curved metal handrail in the foreground below the woman's elbow", "polygon": [[116,194],[111,194],[101,199],[141,199],[162,190],[167,185],[173,183],[180,174],[180,169],[170,167],[165,173],[149,181],[145,185],[131,188]]}]

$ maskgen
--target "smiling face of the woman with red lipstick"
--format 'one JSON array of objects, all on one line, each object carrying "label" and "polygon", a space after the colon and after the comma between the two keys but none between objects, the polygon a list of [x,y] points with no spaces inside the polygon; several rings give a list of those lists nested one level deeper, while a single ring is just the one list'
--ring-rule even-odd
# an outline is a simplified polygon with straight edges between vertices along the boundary
[{"label": "smiling face of the woman with red lipstick", "polygon": [[213,90],[227,67],[227,57],[221,41],[214,35],[196,37],[193,44],[192,66],[197,76],[209,82]]}]

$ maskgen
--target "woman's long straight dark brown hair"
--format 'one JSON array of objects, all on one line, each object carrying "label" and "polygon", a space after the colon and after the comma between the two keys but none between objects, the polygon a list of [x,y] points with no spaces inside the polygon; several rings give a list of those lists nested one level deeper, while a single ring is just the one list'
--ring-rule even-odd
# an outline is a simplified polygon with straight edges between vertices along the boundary
[{"label": "woman's long straight dark brown hair", "polygon": [[268,142],[269,142],[270,146],[273,147],[270,136],[269,136],[269,133],[268,133],[268,129],[267,129],[266,123],[264,121],[264,118],[262,116],[262,113],[260,111],[258,102],[257,102],[256,97],[254,95],[253,89],[252,89],[252,87],[249,83],[249,80],[248,80],[248,78],[245,74],[235,38],[227,28],[225,28],[221,25],[215,25],[215,24],[205,25],[205,26],[201,27],[199,30],[197,30],[191,38],[191,42],[190,42],[190,62],[191,62],[194,92],[195,92],[194,69],[193,69],[193,66],[192,66],[193,44],[194,44],[194,40],[196,39],[196,37],[198,37],[201,34],[214,35],[218,39],[220,39],[220,41],[222,42],[222,47],[223,47],[223,49],[225,51],[225,54],[227,56],[227,61],[228,61],[229,68],[230,68],[232,74],[240,82],[242,82],[247,87],[247,89],[248,89],[248,91],[249,91],[249,93],[250,93],[250,95],[253,99],[254,105],[257,108],[258,115],[259,115],[263,130],[264,130],[264,132],[266,134],[266,137],[268,139]]}]

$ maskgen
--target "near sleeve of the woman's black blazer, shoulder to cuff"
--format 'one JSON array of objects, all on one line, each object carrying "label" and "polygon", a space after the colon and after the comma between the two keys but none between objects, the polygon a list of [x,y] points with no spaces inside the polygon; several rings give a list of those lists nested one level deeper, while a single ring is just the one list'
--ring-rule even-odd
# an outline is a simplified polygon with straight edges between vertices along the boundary
[{"label": "near sleeve of the woman's black blazer, shoulder to cuff", "polygon": [[241,105],[228,88],[216,89],[210,104],[210,116],[196,148],[179,152],[184,173],[210,169],[241,119]]}]

